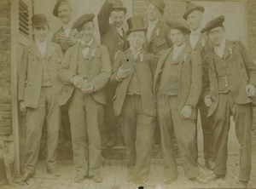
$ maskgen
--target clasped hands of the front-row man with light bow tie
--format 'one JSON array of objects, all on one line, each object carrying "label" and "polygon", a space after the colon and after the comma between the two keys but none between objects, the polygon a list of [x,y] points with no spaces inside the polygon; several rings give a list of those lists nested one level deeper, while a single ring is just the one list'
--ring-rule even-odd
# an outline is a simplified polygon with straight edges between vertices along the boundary
[{"label": "clasped hands of the front-row man with light bow tie", "polygon": [[92,83],[88,82],[87,79],[84,79],[80,76],[73,76],[71,82],[76,88],[80,89],[84,94],[91,94],[96,90],[95,86]]}]

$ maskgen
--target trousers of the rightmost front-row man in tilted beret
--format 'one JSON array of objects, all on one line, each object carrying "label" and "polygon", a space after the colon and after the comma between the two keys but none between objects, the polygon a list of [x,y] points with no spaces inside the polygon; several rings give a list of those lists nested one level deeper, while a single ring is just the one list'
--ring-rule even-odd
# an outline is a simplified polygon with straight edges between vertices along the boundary
[{"label": "trousers of the rightmost front-row man in tilted beret", "polygon": [[252,163],[252,106],[251,104],[237,104],[230,93],[218,94],[218,106],[210,117],[214,129],[213,152],[216,175],[226,175],[228,158],[228,136],[230,116],[234,116],[236,123],[236,137],[240,148],[239,180],[250,180]]}]

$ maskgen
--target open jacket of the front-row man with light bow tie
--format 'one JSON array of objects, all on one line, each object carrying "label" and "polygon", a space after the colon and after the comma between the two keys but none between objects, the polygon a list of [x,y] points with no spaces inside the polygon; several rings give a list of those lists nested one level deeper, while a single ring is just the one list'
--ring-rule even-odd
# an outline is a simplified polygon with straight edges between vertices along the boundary
[{"label": "open jacket of the front-row man with light bow tie", "polygon": [[[67,103],[67,100],[73,94],[74,86],[70,83],[70,78],[78,74],[78,60],[79,52],[82,50],[81,43],[75,44],[73,47],[67,49],[64,56],[63,64],[59,71],[61,81],[65,83],[65,95],[61,98],[61,104]],[[92,43],[89,61],[89,75],[88,81],[92,83],[96,91],[91,95],[97,102],[106,105],[105,85],[108,83],[111,76],[111,64],[108,55],[108,49],[100,44]]]}]

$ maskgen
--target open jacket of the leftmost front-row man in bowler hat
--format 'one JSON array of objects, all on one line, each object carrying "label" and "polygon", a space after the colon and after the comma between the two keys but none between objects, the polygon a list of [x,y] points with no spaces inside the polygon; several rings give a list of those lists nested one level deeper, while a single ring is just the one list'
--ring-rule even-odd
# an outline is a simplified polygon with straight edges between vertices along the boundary
[{"label": "open jacket of the leftmost front-row man in bowler hat", "polygon": [[[57,72],[61,66],[62,58],[61,47],[49,41],[47,42],[44,57],[40,54],[38,46],[34,42],[23,49],[20,63],[18,100],[24,100],[27,107],[38,107],[43,77],[43,59],[47,60],[46,64],[55,95],[60,96],[63,85],[57,77]],[[58,102],[60,104],[59,100]]]}]

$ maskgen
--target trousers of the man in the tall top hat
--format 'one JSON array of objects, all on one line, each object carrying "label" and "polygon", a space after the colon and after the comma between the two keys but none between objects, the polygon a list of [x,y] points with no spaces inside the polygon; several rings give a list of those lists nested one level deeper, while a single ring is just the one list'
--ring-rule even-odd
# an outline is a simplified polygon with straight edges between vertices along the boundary
[{"label": "trousers of the man in the tall top hat", "polygon": [[120,117],[128,169],[135,180],[148,180],[155,117],[143,112],[141,95],[126,95]]}]

